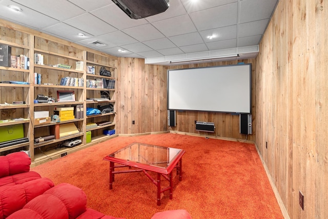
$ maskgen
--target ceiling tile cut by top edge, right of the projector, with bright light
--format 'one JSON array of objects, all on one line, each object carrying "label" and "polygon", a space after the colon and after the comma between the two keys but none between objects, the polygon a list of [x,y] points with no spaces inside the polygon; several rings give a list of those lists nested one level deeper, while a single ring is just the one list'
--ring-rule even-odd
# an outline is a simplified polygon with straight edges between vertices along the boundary
[{"label": "ceiling tile cut by top edge, right of the projector, with bright light", "polygon": [[[214,8],[221,5],[227,5],[230,3],[238,2],[238,0],[201,0],[201,1],[190,1],[190,0],[181,0],[182,4],[185,6],[189,13],[195,11],[201,11],[204,9]],[[171,4],[171,1],[170,1]]]}]

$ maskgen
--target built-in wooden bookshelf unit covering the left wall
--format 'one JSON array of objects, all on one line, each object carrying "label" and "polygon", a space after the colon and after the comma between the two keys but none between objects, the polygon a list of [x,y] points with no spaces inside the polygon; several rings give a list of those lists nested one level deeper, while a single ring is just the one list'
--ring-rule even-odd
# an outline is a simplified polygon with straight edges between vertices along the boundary
[{"label": "built-in wooden bookshelf unit covering the left wall", "polygon": [[[61,143],[66,140],[79,138],[82,141],[80,145],[64,149],[64,151],[72,152],[111,138],[112,136],[106,136],[103,134],[103,129],[112,129],[115,127],[115,113],[111,112],[86,116],[86,109],[87,106],[96,108],[98,105],[114,105],[115,89],[87,88],[87,79],[102,82],[99,83],[99,87],[102,87],[101,84],[107,85],[108,82],[114,83],[113,80],[117,77],[118,58],[65,41],[64,39],[39,33],[28,28],[22,28],[16,24],[13,25],[11,22],[2,23],[0,26],[2,29],[0,32],[0,44],[12,47],[12,56],[24,57],[24,59],[21,58],[21,68],[26,66],[28,58],[30,62],[29,69],[0,67],[1,82],[18,81],[29,83],[24,85],[0,83],[0,89],[2,92],[2,95],[0,96],[0,121],[10,121],[13,117],[25,118],[23,121],[0,123],[0,127],[6,127],[9,125],[21,126],[20,124],[23,124],[24,137],[29,138],[29,142],[27,143],[1,148],[0,155],[6,155],[17,150],[26,150],[30,152],[32,163],[42,163],[51,158],[60,157],[60,153],[62,152],[58,151],[58,149],[61,148]],[[14,59],[12,60],[14,64]],[[26,61],[24,64],[23,60]],[[18,62],[16,61],[16,63]],[[63,67],[70,66],[71,68],[59,68],[55,66],[59,64],[63,65]],[[94,66],[95,74],[87,73],[88,65]],[[111,76],[100,75],[99,70],[101,67],[105,67],[109,70]],[[72,82],[71,84],[74,84],[73,82],[75,82],[74,85],[78,84],[80,87],[63,86],[65,80],[61,84],[62,78],[74,78],[73,81],[70,81]],[[78,83],[76,83],[76,78]],[[65,91],[69,90],[74,91],[76,101],[70,99],[70,102],[57,102],[57,92],[63,91],[65,93]],[[104,92],[101,91],[107,91],[108,94],[105,95]],[[7,93],[9,95],[7,95]],[[55,102],[34,103],[34,99],[36,99],[39,94],[55,98]],[[88,97],[103,98],[102,96],[108,95],[110,95],[111,100],[102,102],[87,101]],[[24,101],[26,104],[12,105],[11,103],[14,101]],[[5,103],[9,103],[9,105],[5,105]],[[55,107],[73,107],[75,118],[73,120],[50,122],[41,125],[36,125],[39,124],[37,121],[37,123],[34,123],[34,114],[36,115],[36,111],[48,111],[49,116],[51,116],[55,113]],[[80,112],[83,112],[83,116]],[[69,118],[73,118],[73,116]],[[112,123],[88,130],[86,129],[87,123],[99,124],[107,121]],[[34,144],[34,139],[36,137],[54,135],[54,129],[57,128],[57,124],[74,124],[80,132],[75,135],[69,135],[52,141]],[[86,141],[86,131],[91,131],[91,143],[87,143]]]}]

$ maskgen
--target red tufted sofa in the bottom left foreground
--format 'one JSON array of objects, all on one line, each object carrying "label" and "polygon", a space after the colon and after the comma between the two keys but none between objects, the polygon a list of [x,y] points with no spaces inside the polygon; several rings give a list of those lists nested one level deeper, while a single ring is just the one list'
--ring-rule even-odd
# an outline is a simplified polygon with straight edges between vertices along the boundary
[{"label": "red tufted sofa in the bottom left foreground", "polygon": [[[0,156],[0,219],[115,219],[87,208],[83,190],[30,171],[31,160],[24,152]],[[117,218],[124,219],[124,218]],[[191,219],[186,210],[158,212],[151,219]]]}]

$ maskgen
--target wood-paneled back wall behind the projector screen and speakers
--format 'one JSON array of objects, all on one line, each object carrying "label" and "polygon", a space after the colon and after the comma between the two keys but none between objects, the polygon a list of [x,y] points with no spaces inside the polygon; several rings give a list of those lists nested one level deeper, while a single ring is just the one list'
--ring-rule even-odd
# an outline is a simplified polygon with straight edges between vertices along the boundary
[{"label": "wood-paneled back wall behind the projector screen and speakers", "polygon": [[[177,111],[176,127],[169,127],[167,118],[167,70],[195,68],[220,65],[236,65],[238,62],[252,63],[255,59],[229,61],[207,64],[160,66],[146,65],[144,59],[119,58],[117,100],[118,116],[115,117],[117,130],[122,134],[134,134],[173,130],[178,132],[196,133],[195,120],[214,122],[215,133],[207,133],[217,137],[245,139],[246,135],[239,133],[239,115],[229,113]],[[253,72],[254,74],[254,67]],[[253,90],[255,80],[253,77]],[[195,88],[197,89],[197,88]],[[253,93],[252,119],[255,120],[255,93]],[[215,101],[215,94],[213,95]],[[197,104],[197,99],[195,99]],[[135,124],[132,125],[132,121]],[[255,141],[256,127],[253,124],[252,135],[247,139]],[[204,135],[204,132],[200,133]]]}]

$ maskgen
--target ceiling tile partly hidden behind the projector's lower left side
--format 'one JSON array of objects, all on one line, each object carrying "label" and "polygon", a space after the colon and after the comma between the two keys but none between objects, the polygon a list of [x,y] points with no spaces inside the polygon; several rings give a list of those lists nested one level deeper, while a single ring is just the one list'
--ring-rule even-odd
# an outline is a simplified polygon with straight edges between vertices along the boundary
[{"label": "ceiling tile partly hidden behind the projector's lower left side", "polygon": [[99,17],[118,30],[148,24],[146,19],[131,19],[115,4],[98,8],[96,10],[90,11],[90,13],[96,17]]}]

